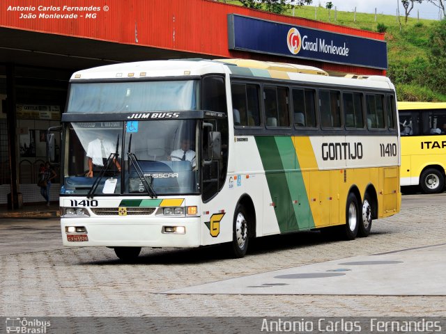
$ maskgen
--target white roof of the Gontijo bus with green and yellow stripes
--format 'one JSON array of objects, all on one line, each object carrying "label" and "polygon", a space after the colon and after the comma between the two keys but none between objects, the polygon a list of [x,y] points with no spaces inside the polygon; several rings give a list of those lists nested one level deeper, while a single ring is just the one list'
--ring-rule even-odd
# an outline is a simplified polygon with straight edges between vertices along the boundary
[{"label": "white roof of the Gontijo bus with green and yellow stripes", "polygon": [[169,61],[140,61],[93,67],[72,74],[71,81],[100,79],[144,79],[154,77],[201,76],[210,73],[233,74],[239,77],[284,79],[305,84],[329,84],[363,88],[391,89],[387,77],[330,77],[317,67],[289,63],[272,63],[247,59],[176,59]]}]

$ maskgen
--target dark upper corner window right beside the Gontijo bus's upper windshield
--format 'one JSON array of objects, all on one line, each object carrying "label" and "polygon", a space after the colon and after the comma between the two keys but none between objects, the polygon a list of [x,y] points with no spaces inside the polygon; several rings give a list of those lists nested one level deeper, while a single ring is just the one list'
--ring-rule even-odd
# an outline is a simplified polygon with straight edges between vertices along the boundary
[{"label": "dark upper corner window right beside the Gontijo bus's upper windshield", "polygon": [[204,77],[201,84],[202,109],[226,113],[226,93],[221,77]]}]

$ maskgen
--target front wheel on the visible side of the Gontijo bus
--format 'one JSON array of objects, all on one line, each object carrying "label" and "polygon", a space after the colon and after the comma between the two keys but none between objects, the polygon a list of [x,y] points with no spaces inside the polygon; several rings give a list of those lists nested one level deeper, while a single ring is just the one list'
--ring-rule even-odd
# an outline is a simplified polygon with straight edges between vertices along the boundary
[{"label": "front wheel on the visible side of the Gontijo bus", "polygon": [[231,255],[233,258],[240,258],[246,255],[249,241],[249,225],[246,209],[243,205],[238,204],[234,212],[233,232],[231,242]]}]

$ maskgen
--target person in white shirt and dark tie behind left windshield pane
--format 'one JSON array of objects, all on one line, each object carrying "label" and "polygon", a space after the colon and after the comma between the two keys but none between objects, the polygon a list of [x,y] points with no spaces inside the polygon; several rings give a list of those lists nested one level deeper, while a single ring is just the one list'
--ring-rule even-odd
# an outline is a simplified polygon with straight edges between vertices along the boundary
[{"label": "person in white shirt and dark tie behind left windshield pane", "polygon": [[[94,141],[91,141],[86,149],[86,156],[89,158],[89,172],[85,176],[93,177],[93,170],[100,170],[107,163],[110,154],[115,151],[116,147],[113,143],[105,141],[102,136],[98,136]],[[113,159],[113,162],[118,172],[121,172],[121,164],[119,164],[119,161]]]}]

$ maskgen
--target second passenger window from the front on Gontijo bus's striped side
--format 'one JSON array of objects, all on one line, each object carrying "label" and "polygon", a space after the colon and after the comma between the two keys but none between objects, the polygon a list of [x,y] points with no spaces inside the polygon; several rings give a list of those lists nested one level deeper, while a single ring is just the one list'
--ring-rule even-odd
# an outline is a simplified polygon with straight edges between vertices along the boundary
[{"label": "second passenger window from the front on Gontijo bus's striped side", "polygon": [[265,86],[263,88],[267,127],[289,127],[288,89]]}]

